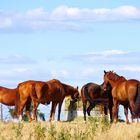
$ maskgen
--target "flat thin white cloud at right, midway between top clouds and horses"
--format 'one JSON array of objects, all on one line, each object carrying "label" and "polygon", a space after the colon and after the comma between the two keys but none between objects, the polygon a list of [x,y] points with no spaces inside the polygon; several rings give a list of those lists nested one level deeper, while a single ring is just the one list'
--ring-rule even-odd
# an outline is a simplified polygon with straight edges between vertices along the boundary
[{"label": "flat thin white cloud at right, midway between top clouds and horses", "polygon": [[125,65],[140,64],[140,52],[130,52],[122,50],[106,50],[102,52],[92,52],[76,57],[83,63],[103,64],[103,65]]}]

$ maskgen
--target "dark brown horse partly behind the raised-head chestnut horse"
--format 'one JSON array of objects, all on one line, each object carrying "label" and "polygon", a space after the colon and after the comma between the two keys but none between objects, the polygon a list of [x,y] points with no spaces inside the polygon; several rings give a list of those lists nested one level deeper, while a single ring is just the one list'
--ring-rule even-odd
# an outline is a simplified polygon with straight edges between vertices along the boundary
[{"label": "dark brown horse partly behind the raised-head chestnut horse", "polygon": [[[83,102],[84,121],[86,121],[86,112],[90,116],[90,111],[96,105],[104,106],[104,113],[107,115],[107,106],[110,111],[110,121],[112,122],[112,96],[111,87],[108,86],[106,92],[104,92],[102,85],[95,83],[87,83],[81,89],[81,98]],[[89,102],[88,108],[87,102]]]}]

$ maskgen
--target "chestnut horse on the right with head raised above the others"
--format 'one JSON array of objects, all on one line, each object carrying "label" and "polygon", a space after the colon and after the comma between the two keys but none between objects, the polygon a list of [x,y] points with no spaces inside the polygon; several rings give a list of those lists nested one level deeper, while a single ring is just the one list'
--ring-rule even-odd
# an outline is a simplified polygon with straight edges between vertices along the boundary
[{"label": "chestnut horse on the right with head raised above the others", "polygon": [[118,105],[124,106],[124,114],[126,116],[126,123],[128,120],[128,108],[132,114],[132,120],[140,117],[140,83],[136,79],[127,80],[123,76],[119,76],[113,71],[104,71],[104,84],[112,87],[113,98],[113,121],[117,122],[118,119]]}]

